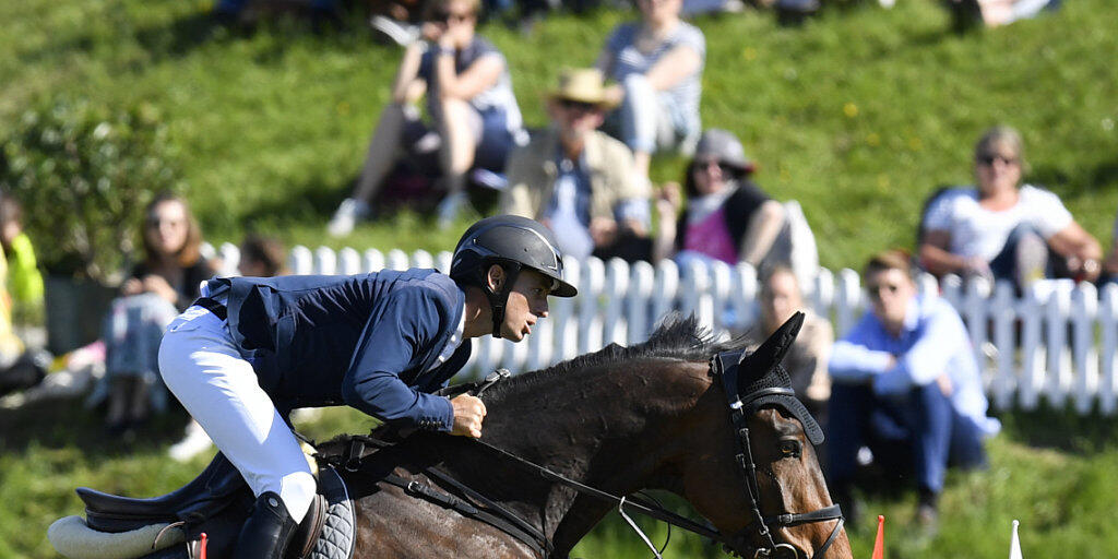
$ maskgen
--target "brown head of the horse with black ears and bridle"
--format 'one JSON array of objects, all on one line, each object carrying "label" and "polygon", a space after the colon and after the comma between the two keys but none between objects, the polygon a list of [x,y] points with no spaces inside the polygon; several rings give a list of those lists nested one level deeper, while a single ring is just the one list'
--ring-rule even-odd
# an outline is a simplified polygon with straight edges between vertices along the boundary
[{"label": "brown head of the horse with black ears and bridle", "polygon": [[730,547],[742,557],[851,557],[815,454],[823,433],[780,366],[803,319],[795,315],[738,362],[716,359],[698,408],[705,428],[693,438],[684,496],[733,534]]}]

